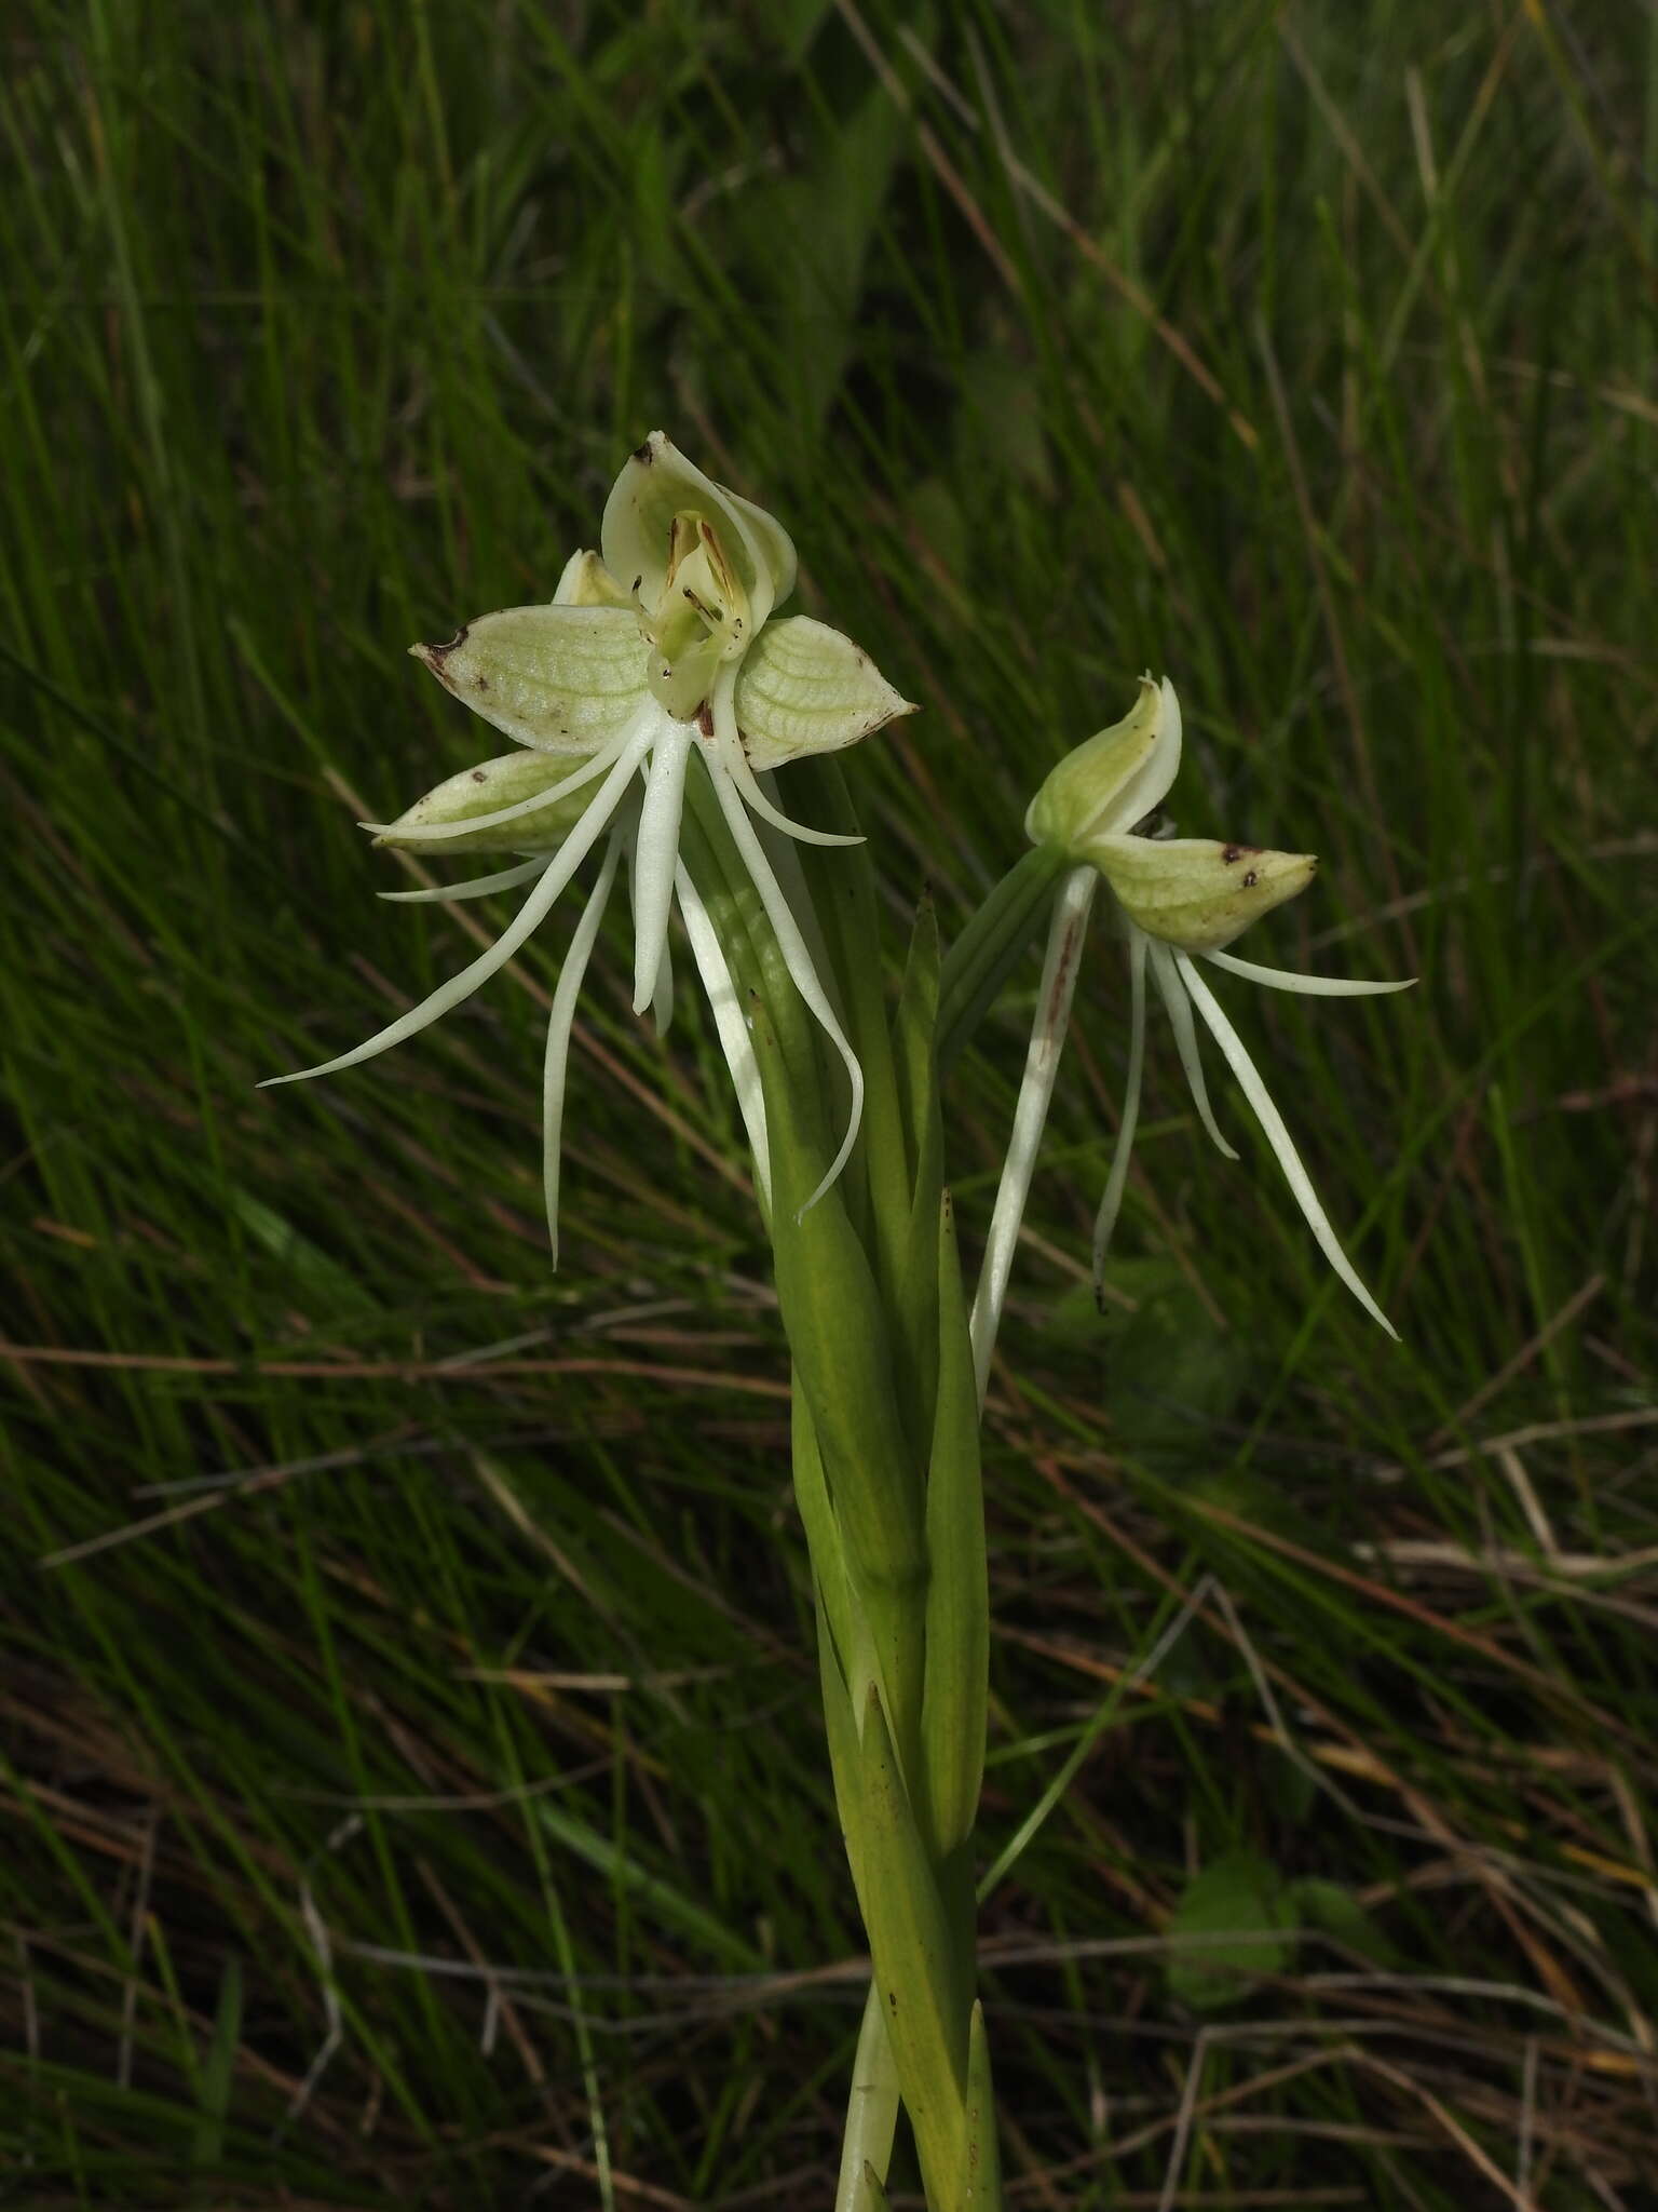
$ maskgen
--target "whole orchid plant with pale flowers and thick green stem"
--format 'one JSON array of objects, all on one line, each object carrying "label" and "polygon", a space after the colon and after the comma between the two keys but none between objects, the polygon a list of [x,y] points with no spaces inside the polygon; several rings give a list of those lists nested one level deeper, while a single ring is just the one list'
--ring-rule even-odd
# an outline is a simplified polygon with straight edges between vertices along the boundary
[{"label": "whole orchid plant with pale flowers and thick green stem", "polygon": [[[1402,984],[1291,975],[1225,947],[1313,874],[1307,854],[1163,834],[1180,765],[1167,679],[1052,770],[1032,849],[948,956],[926,902],[898,1004],[880,984],[875,872],[836,757],[913,708],[838,630],[778,617],[783,526],[652,434],[553,602],[480,615],[416,659],[517,750],[438,783],[378,845],[511,865],[402,900],[528,885],[478,960],[298,1082],[402,1044],[502,969],[597,854],[546,1037],[544,1183],[557,1256],[559,1130],[577,1000],[621,876],[632,1002],[668,1029],[674,905],[749,1139],[794,1363],[794,1482],[818,1613],[829,1767],[871,1949],[836,2212],[884,2205],[900,2110],[928,2205],[995,2208],[997,2135],[975,1997],[975,1818],[988,1703],[979,1409],[1052,1099],[1081,940],[1105,887],[1130,962],[1127,1093],[1094,1234],[1119,1219],[1145,1062],[1145,980],[1198,1117],[1200,1020],[1238,1077],[1313,1237],[1355,1274],[1278,1108],[1198,973],[1351,995]],[[791,772],[787,812],[776,772]],[[940,1084],[1017,960],[1048,949],[1026,1075],[968,1305],[944,1179]],[[1196,1020],[1194,1020],[1196,1015]]]}]

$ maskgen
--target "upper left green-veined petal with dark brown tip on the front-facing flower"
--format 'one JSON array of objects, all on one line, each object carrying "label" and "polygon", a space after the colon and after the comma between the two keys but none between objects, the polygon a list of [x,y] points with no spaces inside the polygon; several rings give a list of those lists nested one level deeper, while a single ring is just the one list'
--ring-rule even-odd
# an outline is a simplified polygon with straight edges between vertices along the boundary
[{"label": "upper left green-veined petal with dark brown tip on the front-facing flower", "polygon": [[535,752],[599,752],[646,692],[646,641],[623,606],[506,606],[469,622],[447,646],[409,653],[455,699]]}]

